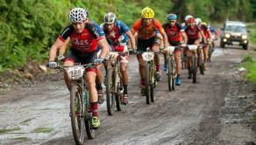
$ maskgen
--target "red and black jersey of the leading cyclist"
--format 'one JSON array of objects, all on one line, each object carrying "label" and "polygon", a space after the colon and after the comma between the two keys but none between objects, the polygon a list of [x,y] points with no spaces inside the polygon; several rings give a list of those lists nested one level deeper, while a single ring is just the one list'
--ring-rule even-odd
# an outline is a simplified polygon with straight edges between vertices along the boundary
[{"label": "red and black jersey of the leading cyclist", "polygon": [[101,40],[104,36],[104,32],[100,26],[96,23],[86,23],[84,30],[81,33],[77,33],[72,24],[68,25],[59,36],[60,40],[65,42],[69,37],[71,40],[71,49],[86,54],[96,51],[98,40]]}]

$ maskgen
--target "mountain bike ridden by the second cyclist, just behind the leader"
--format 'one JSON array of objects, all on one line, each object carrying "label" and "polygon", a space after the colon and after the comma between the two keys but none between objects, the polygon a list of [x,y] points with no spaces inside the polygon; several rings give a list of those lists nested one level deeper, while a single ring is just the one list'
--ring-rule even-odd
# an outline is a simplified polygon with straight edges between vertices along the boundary
[{"label": "mountain bike ridden by the second cyclist, just behind the leader", "polygon": [[119,56],[124,56],[128,52],[110,52],[110,59],[107,62],[106,71],[106,95],[107,95],[107,110],[108,114],[114,113],[115,106],[117,111],[123,109],[123,92],[122,74],[120,70]]}]

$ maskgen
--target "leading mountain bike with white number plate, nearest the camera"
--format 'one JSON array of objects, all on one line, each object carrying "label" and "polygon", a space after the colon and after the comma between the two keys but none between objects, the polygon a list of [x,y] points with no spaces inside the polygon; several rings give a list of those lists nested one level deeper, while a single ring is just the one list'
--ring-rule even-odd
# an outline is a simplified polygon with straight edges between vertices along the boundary
[{"label": "leading mountain bike with white number plate, nearest the camera", "polygon": [[57,66],[68,75],[70,80],[70,118],[75,143],[82,145],[85,130],[89,139],[95,138],[95,128],[92,128],[92,113],[89,111],[89,92],[84,80],[86,69],[99,64],[75,64],[74,66]]}]

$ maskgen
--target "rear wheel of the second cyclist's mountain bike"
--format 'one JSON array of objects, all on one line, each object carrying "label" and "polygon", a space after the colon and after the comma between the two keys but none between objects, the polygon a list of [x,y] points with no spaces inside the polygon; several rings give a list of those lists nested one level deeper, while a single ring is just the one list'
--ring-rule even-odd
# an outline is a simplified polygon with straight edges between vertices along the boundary
[{"label": "rear wheel of the second cyclist's mountain bike", "polygon": [[124,90],[123,90],[123,83],[122,83],[122,75],[120,72],[117,74],[117,77],[119,77],[119,82],[117,84],[117,94],[116,94],[117,111],[122,111],[123,110],[122,98],[123,98]]}]

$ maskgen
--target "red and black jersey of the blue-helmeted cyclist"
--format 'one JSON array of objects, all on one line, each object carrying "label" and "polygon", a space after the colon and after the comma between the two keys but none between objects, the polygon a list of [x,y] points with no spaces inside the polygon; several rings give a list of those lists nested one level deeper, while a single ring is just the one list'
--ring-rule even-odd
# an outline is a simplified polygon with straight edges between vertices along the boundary
[{"label": "red and black jersey of the blue-helmeted cyclist", "polygon": [[181,41],[181,31],[184,31],[181,24],[176,23],[174,26],[170,26],[170,24],[163,24],[163,28],[167,33],[169,42]]}]

